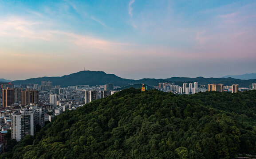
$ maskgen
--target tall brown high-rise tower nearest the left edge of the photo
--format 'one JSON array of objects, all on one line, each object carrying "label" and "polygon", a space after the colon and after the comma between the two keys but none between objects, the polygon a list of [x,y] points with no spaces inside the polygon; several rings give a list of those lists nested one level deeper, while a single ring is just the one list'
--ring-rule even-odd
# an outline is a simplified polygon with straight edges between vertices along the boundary
[{"label": "tall brown high-rise tower nearest the left edge of the photo", "polygon": [[2,106],[8,107],[14,104],[14,89],[13,88],[6,88],[2,89]]}]

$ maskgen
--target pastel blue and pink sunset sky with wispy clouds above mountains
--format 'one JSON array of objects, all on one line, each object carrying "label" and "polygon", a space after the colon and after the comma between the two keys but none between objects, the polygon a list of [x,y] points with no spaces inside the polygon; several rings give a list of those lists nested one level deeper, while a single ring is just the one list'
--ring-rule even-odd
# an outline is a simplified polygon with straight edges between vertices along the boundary
[{"label": "pastel blue and pink sunset sky with wispy clouds above mountains", "polygon": [[0,0],[0,78],[256,73],[255,0]]}]

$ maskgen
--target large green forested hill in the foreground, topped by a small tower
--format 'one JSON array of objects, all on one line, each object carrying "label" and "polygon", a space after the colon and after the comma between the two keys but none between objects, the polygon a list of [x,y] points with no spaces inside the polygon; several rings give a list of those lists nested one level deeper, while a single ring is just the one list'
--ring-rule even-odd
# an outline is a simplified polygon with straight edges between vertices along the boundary
[{"label": "large green forested hill in the foreground, topped by a small tower", "polygon": [[256,91],[130,88],[60,114],[0,159],[233,159],[255,143]]}]

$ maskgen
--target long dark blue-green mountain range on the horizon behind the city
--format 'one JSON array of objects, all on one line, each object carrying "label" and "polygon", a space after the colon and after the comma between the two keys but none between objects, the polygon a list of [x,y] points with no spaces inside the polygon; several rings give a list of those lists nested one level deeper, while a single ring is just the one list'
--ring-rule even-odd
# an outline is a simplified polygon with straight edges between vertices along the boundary
[{"label": "long dark blue-green mountain range on the horizon behind the city", "polygon": [[65,75],[61,77],[39,77],[26,80],[16,80],[12,83],[14,84],[41,84],[42,81],[51,81],[53,85],[60,85],[61,87],[75,86],[75,85],[103,85],[106,83],[113,83],[116,86],[129,86],[130,84],[141,84],[150,85],[151,87],[157,86],[161,82],[174,82],[176,85],[182,85],[182,83],[193,83],[198,82],[202,85],[207,85],[209,83],[222,83],[224,85],[239,84],[239,87],[250,87],[252,83],[256,83],[256,79],[242,80],[234,78],[189,78],[189,77],[172,77],[168,79],[123,79],[114,74],[106,74],[102,71],[80,71],[77,73],[72,73],[70,75]]}]

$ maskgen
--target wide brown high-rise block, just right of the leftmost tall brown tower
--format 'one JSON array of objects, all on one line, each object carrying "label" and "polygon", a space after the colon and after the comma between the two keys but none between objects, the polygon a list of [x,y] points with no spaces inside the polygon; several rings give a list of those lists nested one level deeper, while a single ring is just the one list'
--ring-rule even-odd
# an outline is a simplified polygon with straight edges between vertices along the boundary
[{"label": "wide brown high-rise block, just right of the leftmost tall brown tower", "polygon": [[39,103],[39,91],[29,90],[21,91],[21,104]]}]

